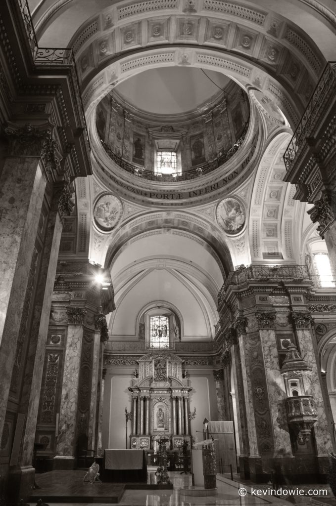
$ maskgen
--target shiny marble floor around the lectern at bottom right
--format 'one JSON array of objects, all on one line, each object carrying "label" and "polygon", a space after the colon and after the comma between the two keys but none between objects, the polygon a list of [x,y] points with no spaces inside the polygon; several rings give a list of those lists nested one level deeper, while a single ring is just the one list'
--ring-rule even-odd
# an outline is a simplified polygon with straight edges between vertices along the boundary
[{"label": "shiny marble floor around the lectern at bottom right", "polygon": [[[174,485],[173,490],[125,490],[119,504],[121,506],[290,506],[291,504],[336,506],[336,499],[328,485],[295,485],[291,492],[283,487],[279,491],[282,495],[278,497],[273,495],[270,485],[254,485],[250,482],[247,485],[231,481],[229,476],[217,475],[217,493],[195,497],[184,495],[180,490],[191,485],[190,475],[169,473],[169,476]],[[66,505],[53,503],[52,506]],[[89,504],[77,503],[76,506],[89,506]]]}]

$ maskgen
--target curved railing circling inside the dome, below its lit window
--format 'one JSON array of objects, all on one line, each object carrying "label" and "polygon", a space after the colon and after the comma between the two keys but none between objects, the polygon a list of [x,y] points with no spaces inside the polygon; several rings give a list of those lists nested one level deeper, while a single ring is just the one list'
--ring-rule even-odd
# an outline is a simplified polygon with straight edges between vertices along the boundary
[{"label": "curved railing circling inside the dome, below its lit window", "polygon": [[134,165],[133,163],[130,163],[126,160],[124,160],[121,156],[114,153],[113,150],[111,150],[107,144],[105,144],[104,141],[100,140],[103,148],[105,149],[108,156],[117,163],[117,165],[121,168],[123,168],[125,171],[129,172],[133,176],[137,176],[142,179],[146,179],[149,181],[156,181],[161,183],[169,183],[169,182],[178,182],[178,181],[188,181],[190,179],[198,178],[199,176],[205,176],[206,174],[209,174],[210,172],[214,171],[216,168],[220,167],[223,163],[227,162],[240,148],[240,146],[243,144],[247,131],[249,126],[249,119],[247,120],[245,124],[244,131],[238,141],[235,142],[233,146],[231,146],[230,149],[228,149],[225,153],[218,156],[218,158],[203,163],[202,165],[198,165],[195,168],[192,168],[190,171],[184,171],[180,172],[177,175],[173,176],[171,174],[162,174],[162,173],[155,173],[154,171],[148,171],[146,168],[140,167],[138,165]]}]

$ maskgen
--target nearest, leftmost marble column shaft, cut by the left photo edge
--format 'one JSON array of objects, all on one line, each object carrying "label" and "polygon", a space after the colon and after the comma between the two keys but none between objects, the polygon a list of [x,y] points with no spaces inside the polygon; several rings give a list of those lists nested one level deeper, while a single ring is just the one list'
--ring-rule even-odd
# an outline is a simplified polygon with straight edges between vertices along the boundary
[{"label": "nearest, leftmost marble column shaft, cut by the left photo edge", "polygon": [[0,176],[0,435],[45,187],[38,157],[5,159]]}]

